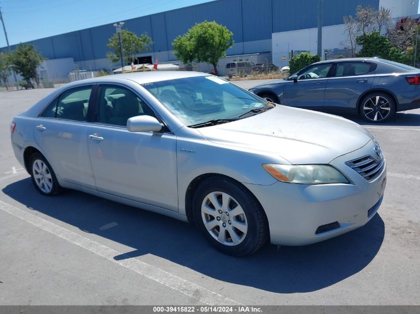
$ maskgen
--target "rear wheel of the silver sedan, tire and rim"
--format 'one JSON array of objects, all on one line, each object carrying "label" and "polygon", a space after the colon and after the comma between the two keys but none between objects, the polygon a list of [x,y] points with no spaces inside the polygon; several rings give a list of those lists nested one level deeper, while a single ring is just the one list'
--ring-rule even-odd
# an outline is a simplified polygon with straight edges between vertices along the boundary
[{"label": "rear wheel of the silver sedan, tire and rim", "polygon": [[[46,168],[44,169],[44,171],[40,169],[40,172],[36,173],[37,168],[36,166],[34,166],[35,163],[37,165],[42,163],[43,165],[45,165]],[[41,153],[35,152],[31,155],[29,161],[29,172],[32,178],[32,184],[42,195],[50,196],[62,191],[62,188],[58,184],[53,168]]]}]

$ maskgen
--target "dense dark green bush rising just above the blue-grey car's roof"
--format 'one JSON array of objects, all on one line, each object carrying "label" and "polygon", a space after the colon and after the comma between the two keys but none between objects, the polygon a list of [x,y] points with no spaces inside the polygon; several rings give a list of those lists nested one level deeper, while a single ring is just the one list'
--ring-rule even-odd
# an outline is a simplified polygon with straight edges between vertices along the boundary
[{"label": "dense dark green bush rising just above the blue-grey car's roof", "polygon": [[356,43],[362,47],[357,57],[380,56],[383,59],[389,58],[391,43],[388,38],[382,36],[379,32],[357,36]]}]

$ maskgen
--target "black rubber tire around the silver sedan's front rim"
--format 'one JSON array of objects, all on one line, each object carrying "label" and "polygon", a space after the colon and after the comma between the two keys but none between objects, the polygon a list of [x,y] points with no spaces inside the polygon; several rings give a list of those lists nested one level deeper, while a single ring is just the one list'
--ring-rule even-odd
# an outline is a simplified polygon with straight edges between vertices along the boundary
[{"label": "black rubber tire around the silver sedan's front rim", "polygon": [[[229,194],[229,196],[232,197],[231,201],[234,204],[233,206],[235,206],[235,203],[237,202],[245,214],[245,224],[247,225],[248,229],[246,233],[242,234],[242,242],[237,245],[233,244],[232,236],[230,236],[230,232],[227,229],[227,233],[225,232],[225,229],[223,229],[224,234],[227,236],[227,242],[229,242],[229,240],[232,241],[231,244],[222,244],[214,237],[214,235],[212,235],[214,232],[218,231],[217,228],[219,228],[220,233],[220,228],[222,228],[221,224],[222,221],[224,221],[223,219],[221,220],[220,217],[218,218],[217,222],[220,224],[220,226],[216,226],[213,231],[208,231],[204,225],[203,215],[205,214],[202,214],[201,206],[207,196],[212,192],[222,192]],[[232,204],[232,202],[229,204]],[[192,206],[195,225],[204,236],[204,238],[218,251],[232,256],[250,255],[257,251],[262,245],[264,245],[268,239],[268,222],[261,205],[247,188],[243,187],[241,184],[238,184],[234,180],[230,180],[228,178],[214,178],[205,180],[195,190]],[[229,207],[230,206],[231,205],[229,205]],[[236,207],[233,207],[233,209],[235,208]],[[227,228],[231,228],[231,232],[232,230],[235,230],[234,232],[238,234],[242,232],[239,231],[239,229],[234,229],[234,225],[238,222],[236,217],[239,216],[229,217],[229,225],[227,221],[225,221],[225,225],[227,225]],[[232,223],[230,219],[232,219]],[[214,217],[212,221],[216,221],[216,217]]]}]

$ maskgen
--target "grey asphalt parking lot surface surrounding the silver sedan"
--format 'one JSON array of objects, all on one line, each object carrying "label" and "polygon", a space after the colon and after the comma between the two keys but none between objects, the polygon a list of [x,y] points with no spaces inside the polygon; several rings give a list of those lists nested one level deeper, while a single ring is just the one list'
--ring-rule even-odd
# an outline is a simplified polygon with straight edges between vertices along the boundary
[{"label": "grey asphalt parking lot surface surrounding the silver sedan", "polygon": [[420,110],[386,125],[345,117],[387,158],[384,201],[367,225],[235,258],[159,214],[72,190],[40,195],[14,157],[9,123],[51,91],[0,93],[0,305],[420,304]]}]

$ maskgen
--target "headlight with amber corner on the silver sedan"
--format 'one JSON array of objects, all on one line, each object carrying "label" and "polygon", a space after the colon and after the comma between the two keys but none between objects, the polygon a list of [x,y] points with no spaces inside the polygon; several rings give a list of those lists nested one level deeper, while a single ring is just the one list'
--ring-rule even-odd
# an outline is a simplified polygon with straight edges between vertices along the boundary
[{"label": "headlight with amber corner on the silver sedan", "polygon": [[336,168],[329,165],[262,165],[271,176],[281,182],[297,184],[348,183]]}]

